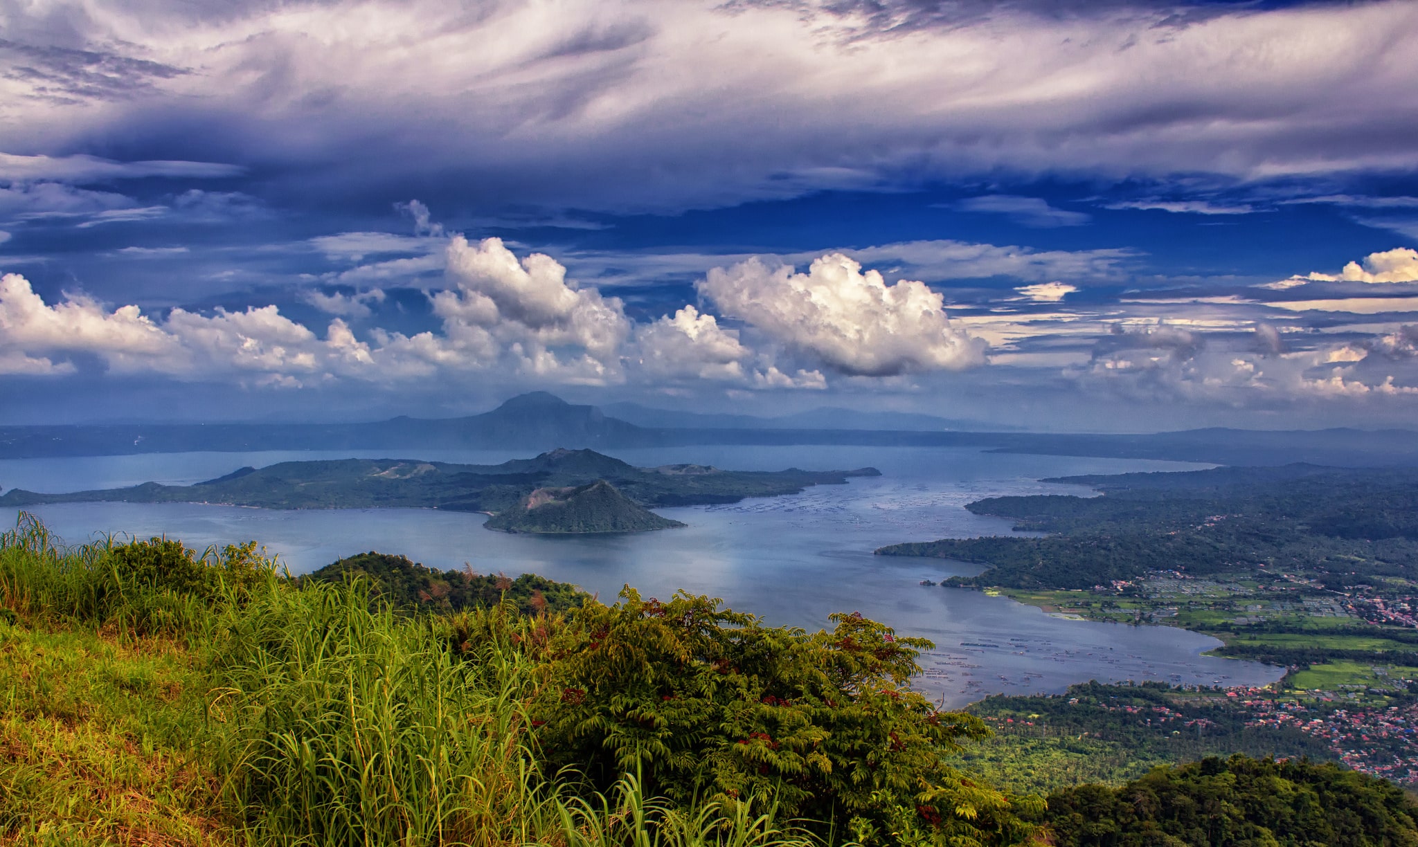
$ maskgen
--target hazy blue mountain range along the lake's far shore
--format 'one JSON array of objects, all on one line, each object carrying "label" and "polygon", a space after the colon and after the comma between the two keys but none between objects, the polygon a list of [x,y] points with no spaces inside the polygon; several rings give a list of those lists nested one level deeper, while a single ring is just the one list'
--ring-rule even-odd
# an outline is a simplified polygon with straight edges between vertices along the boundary
[{"label": "hazy blue mountain range along the lake's far shore", "polygon": [[[689,445],[960,446],[1008,453],[1171,459],[1217,465],[1418,466],[1418,433],[1405,429],[1193,429],[1144,435],[951,429],[959,421],[900,412],[815,409],[786,418],[692,415],[628,404],[569,404],[536,391],[467,418],[393,418],[364,424],[125,424],[0,426],[0,459],[189,450],[423,450]],[[939,428],[927,426],[939,424]],[[864,428],[882,426],[882,428]],[[0,480],[3,484],[3,480]]]}]

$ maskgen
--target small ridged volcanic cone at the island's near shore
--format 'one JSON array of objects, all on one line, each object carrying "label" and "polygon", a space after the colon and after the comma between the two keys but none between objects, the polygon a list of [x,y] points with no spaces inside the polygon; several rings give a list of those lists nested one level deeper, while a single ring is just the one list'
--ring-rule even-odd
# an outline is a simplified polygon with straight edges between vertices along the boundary
[{"label": "small ridged volcanic cone at the island's near shore", "polygon": [[645,533],[685,524],[661,517],[598,479],[584,486],[537,489],[510,508],[488,518],[489,530],[542,535]]}]

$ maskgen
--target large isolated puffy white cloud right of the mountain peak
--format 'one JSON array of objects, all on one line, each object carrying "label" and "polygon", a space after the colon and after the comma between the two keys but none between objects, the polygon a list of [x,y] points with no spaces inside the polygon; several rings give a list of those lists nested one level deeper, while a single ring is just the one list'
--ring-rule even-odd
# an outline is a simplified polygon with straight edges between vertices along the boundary
[{"label": "large isolated puffy white cloud right of the mountain peak", "polygon": [[715,268],[699,293],[726,316],[848,375],[959,370],[983,364],[984,343],[951,326],[943,297],[923,282],[886,285],[842,254],[807,273],[749,259]]}]

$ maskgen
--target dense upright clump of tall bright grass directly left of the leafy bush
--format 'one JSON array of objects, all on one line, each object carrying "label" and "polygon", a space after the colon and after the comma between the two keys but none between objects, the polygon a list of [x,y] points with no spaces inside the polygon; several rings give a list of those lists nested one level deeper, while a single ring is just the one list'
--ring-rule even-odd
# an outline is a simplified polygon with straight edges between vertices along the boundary
[{"label": "dense upright clump of tall bright grass directly left of the leafy bush", "polygon": [[357,585],[223,622],[210,712],[223,797],[262,843],[527,843],[554,826],[506,642],[459,660]]}]

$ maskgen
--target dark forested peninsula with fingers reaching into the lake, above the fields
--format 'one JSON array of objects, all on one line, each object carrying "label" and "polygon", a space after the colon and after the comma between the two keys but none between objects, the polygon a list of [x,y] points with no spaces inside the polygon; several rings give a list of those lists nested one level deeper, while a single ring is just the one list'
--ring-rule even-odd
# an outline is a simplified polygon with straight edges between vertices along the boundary
[{"label": "dark forested peninsula with fingers reaching into the lake, above the fields", "polygon": [[895,544],[882,555],[988,564],[951,585],[1092,588],[1149,571],[1256,572],[1283,565],[1344,585],[1418,578],[1418,472],[1221,467],[1187,473],[1062,477],[1100,497],[988,497],[977,514],[1010,517],[1042,538]]}]

